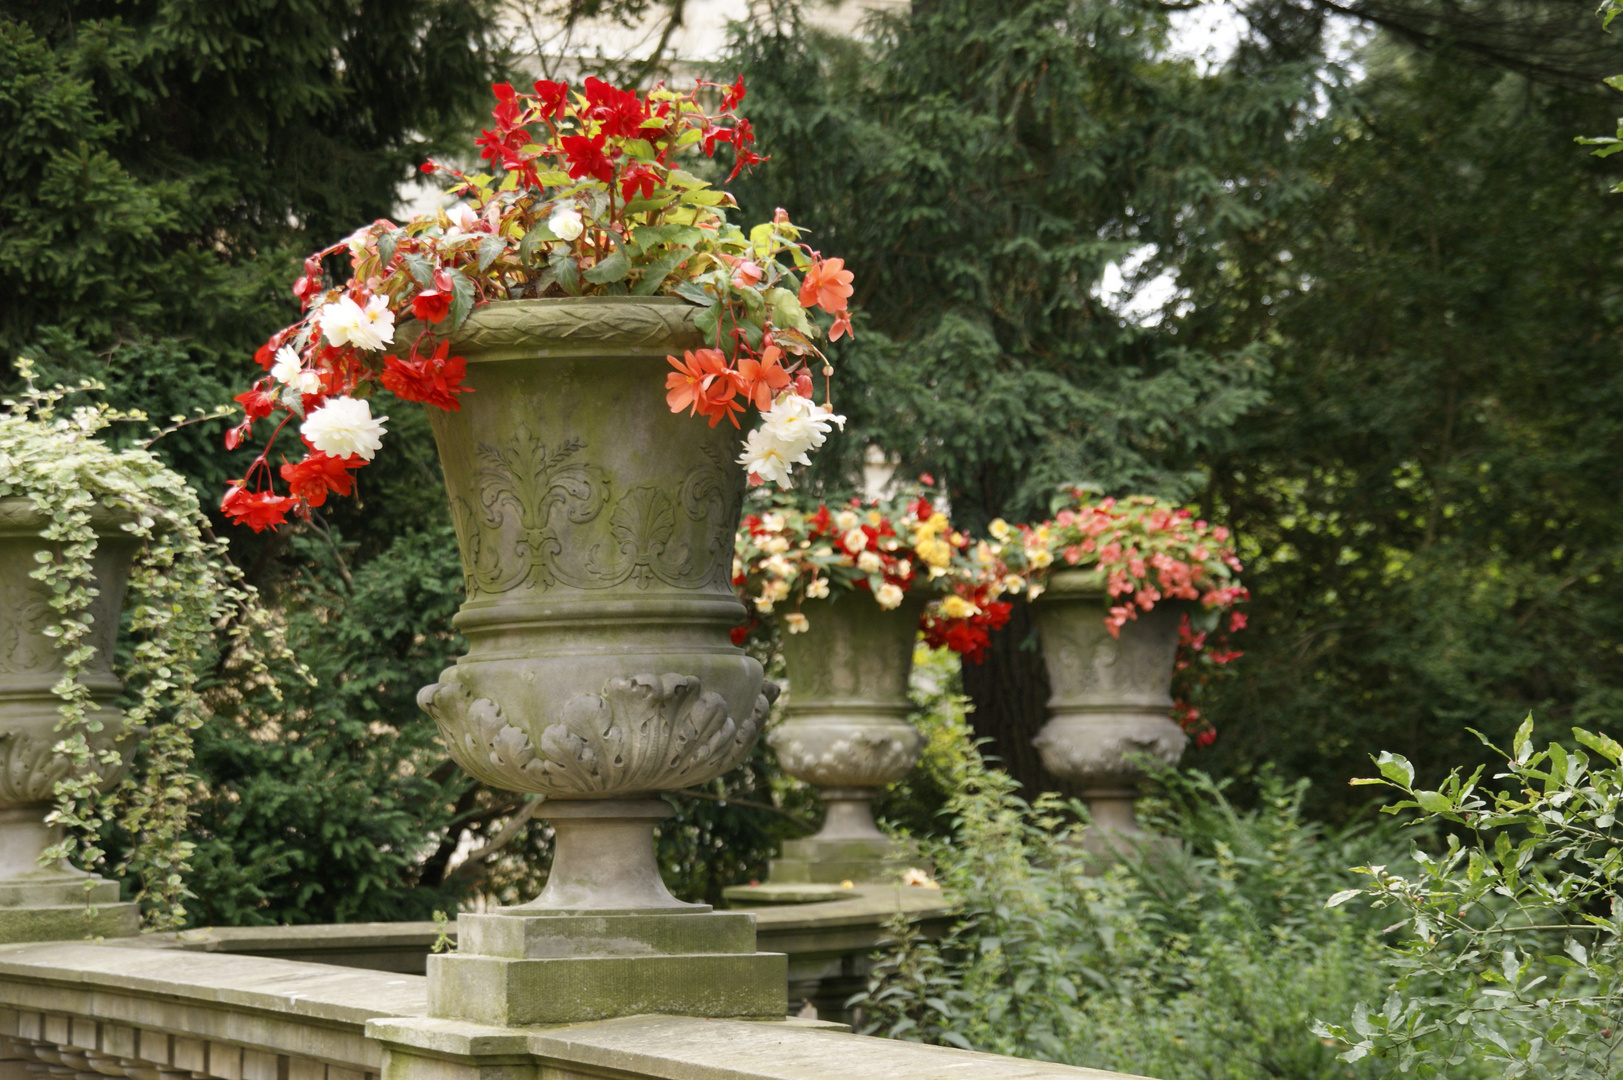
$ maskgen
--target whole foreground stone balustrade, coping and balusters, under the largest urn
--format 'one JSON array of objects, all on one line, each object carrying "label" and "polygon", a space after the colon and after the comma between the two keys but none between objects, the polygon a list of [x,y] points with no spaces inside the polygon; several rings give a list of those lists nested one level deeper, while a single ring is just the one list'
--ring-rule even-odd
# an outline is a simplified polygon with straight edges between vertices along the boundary
[{"label": "whole foreground stone balustrade, coping and balusters, under the largest urn", "polygon": [[0,1080],[1126,1080],[826,1022],[513,1028],[428,1018],[427,1002],[419,974],[172,937],[5,945]]}]

